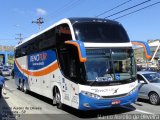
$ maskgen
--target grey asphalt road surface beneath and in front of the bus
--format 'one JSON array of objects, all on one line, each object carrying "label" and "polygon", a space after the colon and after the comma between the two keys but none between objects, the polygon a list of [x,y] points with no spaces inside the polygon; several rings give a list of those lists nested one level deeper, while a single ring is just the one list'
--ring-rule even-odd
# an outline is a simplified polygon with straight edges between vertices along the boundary
[{"label": "grey asphalt road surface beneath and in front of the bus", "polygon": [[52,100],[32,92],[25,94],[16,88],[11,77],[6,79],[6,94],[0,99],[0,120],[160,119],[160,105],[151,105],[146,100],[105,110],[83,112],[68,106],[60,110],[52,105]]}]

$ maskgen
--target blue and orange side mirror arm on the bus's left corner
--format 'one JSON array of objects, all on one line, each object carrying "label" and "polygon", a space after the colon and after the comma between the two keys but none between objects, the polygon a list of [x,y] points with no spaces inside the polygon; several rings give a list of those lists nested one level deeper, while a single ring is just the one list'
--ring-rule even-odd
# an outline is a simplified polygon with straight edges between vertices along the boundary
[{"label": "blue and orange side mirror arm on the bus's left corner", "polygon": [[70,44],[70,45],[73,45],[77,48],[80,62],[86,62],[87,61],[87,59],[86,59],[86,49],[85,49],[82,41],[79,41],[79,40],[65,41],[65,44]]}]

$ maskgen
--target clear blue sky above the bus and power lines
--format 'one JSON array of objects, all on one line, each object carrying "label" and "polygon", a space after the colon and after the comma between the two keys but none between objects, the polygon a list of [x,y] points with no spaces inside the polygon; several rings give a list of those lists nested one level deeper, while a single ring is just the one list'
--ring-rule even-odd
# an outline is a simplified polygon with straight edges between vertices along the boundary
[{"label": "clear blue sky above the bus and power lines", "polygon": [[[1,0],[0,1],[0,45],[17,45],[18,34],[27,38],[39,32],[32,23],[44,18],[42,29],[67,17],[95,17],[116,6],[99,18],[105,18],[147,0]],[[121,12],[107,19],[115,19],[141,9],[160,0],[148,0],[145,4]],[[160,39],[160,3],[139,12],[116,19],[126,29],[130,40],[147,41]]]}]

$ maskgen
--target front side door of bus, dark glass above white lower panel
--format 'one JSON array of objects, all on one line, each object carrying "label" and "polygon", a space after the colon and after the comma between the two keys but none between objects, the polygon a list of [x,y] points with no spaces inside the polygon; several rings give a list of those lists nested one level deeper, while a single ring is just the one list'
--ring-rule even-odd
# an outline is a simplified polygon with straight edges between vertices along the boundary
[{"label": "front side door of bus, dark glass above white lower panel", "polygon": [[84,80],[84,66],[79,60],[79,53],[76,46],[70,42],[60,46],[58,50],[61,72],[64,76],[61,88],[64,102],[73,107],[78,107],[78,84]]}]

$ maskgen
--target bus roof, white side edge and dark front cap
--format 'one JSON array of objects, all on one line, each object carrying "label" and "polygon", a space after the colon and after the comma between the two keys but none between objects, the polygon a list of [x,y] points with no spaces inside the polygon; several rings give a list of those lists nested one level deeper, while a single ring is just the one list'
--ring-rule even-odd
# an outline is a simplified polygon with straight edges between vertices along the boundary
[{"label": "bus roof, white side edge and dark front cap", "polygon": [[31,35],[30,37],[24,39],[21,43],[19,43],[18,45],[15,46],[18,47],[20,45],[22,45],[23,43],[27,42],[27,41],[30,41],[31,39],[45,33],[46,31],[60,25],[60,24],[64,24],[64,23],[67,23],[67,24],[71,24],[73,25],[74,23],[76,22],[107,22],[107,23],[111,23],[111,24],[120,24],[119,22],[117,21],[113,21],[113,20],[108,20],[108,19],[103,19],[103,18],[87,18],[87,17],[72,17],[72,18],[64,18],[60,21],[58,21],[57,23],[51,25],[50,27],[36,33],[36,34],[33,34]]}]

